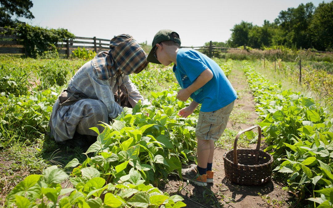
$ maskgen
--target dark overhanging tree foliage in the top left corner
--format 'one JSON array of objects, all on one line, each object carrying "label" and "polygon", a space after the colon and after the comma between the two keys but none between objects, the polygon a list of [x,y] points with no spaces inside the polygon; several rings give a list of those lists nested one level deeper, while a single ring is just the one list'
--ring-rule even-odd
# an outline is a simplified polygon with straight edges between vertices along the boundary
[{"label": "dark overhanging tree foliage in the top left corner", "polygon": [[12,17],[25,17],[27,19],[35,18],[29,10],[33,3],[30,0],[0,0],[0,26],[14,26],[19,23],[17,19]]}]

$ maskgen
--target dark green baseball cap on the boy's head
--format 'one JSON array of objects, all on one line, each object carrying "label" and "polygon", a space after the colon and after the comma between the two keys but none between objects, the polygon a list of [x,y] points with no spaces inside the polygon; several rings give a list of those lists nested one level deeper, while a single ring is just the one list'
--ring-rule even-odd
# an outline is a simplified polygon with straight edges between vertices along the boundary
[{"label": "dark green baseball cap on the boy's head", "polygon": [[[161,43],[162,41],[171,40],[171,41],[174,41],[176,43],[179,43],[179,46],[180,46],[180,43],[181,43],[180,38],[173,38],[171,36],[172,33],[176,33],[176,32],[172,31],[172,30],[160,30],[159,32],[156,33],[156,35],[154,36],[153,43],[152,43],[153,48],[149,52],[148,57],[147,57],[148,62],[155,63],[155,64],[161,64],[159,62],[159,60],[157,60],[154,56],[154,51],[155,51],[157,43]],[[178,33],[176,33],[176,34],[178,35]],[[179,37],[179,35],[178,35],[178,37]]]}]

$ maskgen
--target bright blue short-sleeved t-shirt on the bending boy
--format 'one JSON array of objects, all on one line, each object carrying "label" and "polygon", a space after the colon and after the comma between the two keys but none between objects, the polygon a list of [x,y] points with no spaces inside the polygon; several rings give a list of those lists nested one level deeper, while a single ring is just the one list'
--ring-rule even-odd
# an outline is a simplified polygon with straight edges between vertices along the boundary
[{"label": "bright blue short-sleeved t-shirt on the bending boy", "polygon": [[213,73],[213,78],[190,96],[201,104],[201,111],[218,110],[236,100],[236,91],[222,69],[206,55],[193,49],[181,48],[178,49],[176,60],[177,66],[173,66],[173,72],[181,88],[190,86],[207,68]]}]

